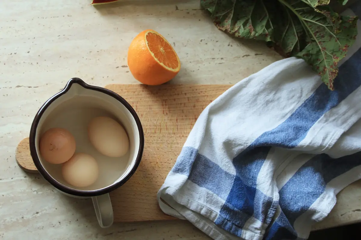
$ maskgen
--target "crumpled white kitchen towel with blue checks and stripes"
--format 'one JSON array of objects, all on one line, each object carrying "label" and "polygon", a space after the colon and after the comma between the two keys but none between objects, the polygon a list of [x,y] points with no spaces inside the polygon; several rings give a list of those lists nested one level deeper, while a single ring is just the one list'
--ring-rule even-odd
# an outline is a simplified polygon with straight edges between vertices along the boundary
[{"label": "crumpled white kitchen towel with blue checks and stripes", "polygon": [[161,209],[213,239],[307,239],[361,178],[360,46],[339,63],[335,91],[288,58],[214,100],[158,192]]}]

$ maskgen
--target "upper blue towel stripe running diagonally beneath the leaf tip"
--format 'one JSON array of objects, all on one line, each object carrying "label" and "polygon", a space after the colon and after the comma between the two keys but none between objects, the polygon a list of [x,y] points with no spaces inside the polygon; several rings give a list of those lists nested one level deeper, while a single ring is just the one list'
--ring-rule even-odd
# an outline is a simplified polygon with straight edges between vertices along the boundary
[{"label": "upper blue towel stripe running diagonally beneath the leaf tip", "polygon": [[334,91],[330,91],[325,84],[321,84],[286,121],[273,130],[263,133],[248,149],[258,146],[295,148],[323,114],[338,105],[360,86],[361,79],[355,79],[355,75],[361,74],[360,59],[361,49],[340,66],[340,74],[335,79]]}]

